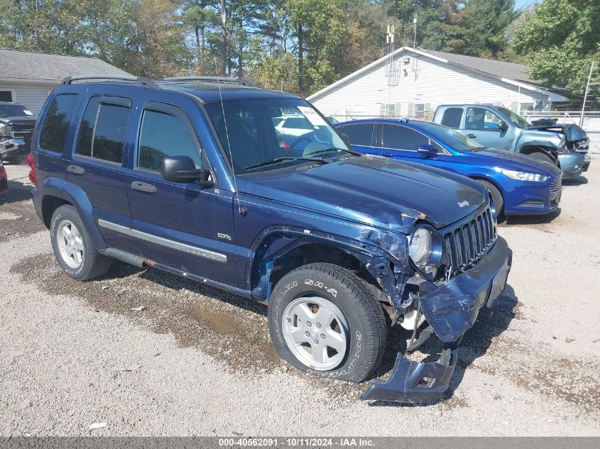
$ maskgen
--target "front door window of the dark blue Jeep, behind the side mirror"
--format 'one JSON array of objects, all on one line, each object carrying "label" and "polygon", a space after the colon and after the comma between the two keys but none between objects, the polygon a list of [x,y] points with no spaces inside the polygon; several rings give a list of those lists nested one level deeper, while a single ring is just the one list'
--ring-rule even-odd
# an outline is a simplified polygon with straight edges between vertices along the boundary
[{"label": "front door window of the dark blue Jeep, behind the side mirror", "polygon": [[160,164],[168,156],[189,156],[196,168],[202,160],[192,134],[192,125],[182,117],[163,111],[143,111],[138,143],[137,167],[160,172]]}]

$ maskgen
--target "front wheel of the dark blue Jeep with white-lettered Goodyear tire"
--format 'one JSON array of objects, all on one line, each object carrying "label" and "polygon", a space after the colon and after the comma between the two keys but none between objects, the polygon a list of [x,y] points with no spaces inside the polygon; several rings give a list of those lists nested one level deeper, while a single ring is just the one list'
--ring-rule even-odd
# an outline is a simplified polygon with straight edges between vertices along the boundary
[{"label": "front wheel of the dark blue Jeep with white-lettered Goodyear tire", "polygon": [[386,348],[381,304],[362,279],[337,265],[313,263],[285,275],[268,317],[280,357],[313,375],[363,382]]}]

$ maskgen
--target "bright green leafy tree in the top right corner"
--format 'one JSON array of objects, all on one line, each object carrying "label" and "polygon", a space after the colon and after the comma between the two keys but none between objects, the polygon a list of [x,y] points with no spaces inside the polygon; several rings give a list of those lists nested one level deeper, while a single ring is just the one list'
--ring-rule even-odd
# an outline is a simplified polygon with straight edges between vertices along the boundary
[{"label": "bright green leafy tree in the top right corner", "polygon": [[600,58],[600,2],[545,0],[515,31],[514,48],[525,55],[530,77],[584,92],[592,60]]}]

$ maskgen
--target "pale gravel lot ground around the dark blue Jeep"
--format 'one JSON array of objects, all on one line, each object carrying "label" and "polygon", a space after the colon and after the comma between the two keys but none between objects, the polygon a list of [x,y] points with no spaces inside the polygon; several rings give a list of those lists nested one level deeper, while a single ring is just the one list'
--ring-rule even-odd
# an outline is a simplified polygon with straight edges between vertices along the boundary
[{"label": "pale gravel lot ground around the dark blue Jeep", "polygon": [[[366,384],[281,362],[261,304],[120,263],[72,281],[33,211],[28,167],[6,171],[0,435],[600,436],[599,164],[565,181],[558,213],[501,226],[514,251],[508,288],[430,406],[366,404]],[[381,375],[404,338],[391,336]]]}]

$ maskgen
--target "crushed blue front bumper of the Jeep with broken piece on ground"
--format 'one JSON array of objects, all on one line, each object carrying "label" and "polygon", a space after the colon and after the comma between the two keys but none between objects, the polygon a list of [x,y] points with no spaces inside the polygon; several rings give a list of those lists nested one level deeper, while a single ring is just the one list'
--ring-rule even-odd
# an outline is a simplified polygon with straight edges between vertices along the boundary
[{"label": "crushed blue front bumper of the Jeep with broken piece on ground", "polygon": [[462,335],[473,324],[481,306],[491,307],[506,287],[513,253],[498,237],[483,260],[436,290],[419,297],[419,306],[444,350],[437,362],[411,362],[396,356],[391,377],[375,379],[361,396],[368,401],[431,404],[447,390],[457,363]]}]

